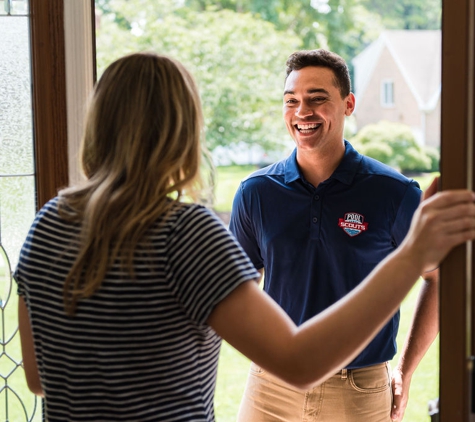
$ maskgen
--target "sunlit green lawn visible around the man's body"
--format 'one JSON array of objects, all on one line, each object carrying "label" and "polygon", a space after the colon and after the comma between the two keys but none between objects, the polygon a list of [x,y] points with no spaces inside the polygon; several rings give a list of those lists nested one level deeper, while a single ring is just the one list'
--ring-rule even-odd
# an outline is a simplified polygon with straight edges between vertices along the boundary
[{"label": "sunlit green lawn visible around the man's body", "polygon": [[[232,198],[241,179],[253,167],[218,167],[216,188],[216,209],[220,212],[229,211]],[[434,178],[434,175],[416,177],[421,187],[425,189]],[[421,280],[414,286],[410,294],[401,305],[401,321],[398,335],[398,349],[402,348],[404,337],[408,331],[415,307]],[[398,356],[393,360],[396,365]],[[239,408],[242,392],[246,383],[249,361],[231,346],[223,342],[218,367],[218,382],[216,389],[215,408],[217,422],[234,422]],[[438,397],[439,388],[439,341],[434,341],[431,348],[421,361],[413,375],[410,400],[404,417],[406,422],[430,421],[428,416],[428,401]]]}]

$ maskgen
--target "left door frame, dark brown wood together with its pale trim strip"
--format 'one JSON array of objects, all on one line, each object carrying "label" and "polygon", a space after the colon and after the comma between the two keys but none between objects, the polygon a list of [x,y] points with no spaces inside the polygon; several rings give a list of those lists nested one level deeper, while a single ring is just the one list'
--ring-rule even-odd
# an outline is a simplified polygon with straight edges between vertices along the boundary
[{"label": "left door frame, dark brown wood together with its pale trim strip", "polygon": [[94,0],[29,0],[37,207],[80,178],[78,150],[96,78]]}]

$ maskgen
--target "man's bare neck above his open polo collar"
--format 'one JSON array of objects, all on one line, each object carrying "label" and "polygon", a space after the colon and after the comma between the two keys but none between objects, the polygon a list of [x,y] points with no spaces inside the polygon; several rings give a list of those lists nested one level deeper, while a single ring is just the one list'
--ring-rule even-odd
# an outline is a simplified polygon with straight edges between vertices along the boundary
[{"label": "man's bare neck above his open polo collar", "polygon": [[297,163],[307,182],[317,187],[327,180],[345,155],[345,145],[330,151],[302,151],[297,149]]}]

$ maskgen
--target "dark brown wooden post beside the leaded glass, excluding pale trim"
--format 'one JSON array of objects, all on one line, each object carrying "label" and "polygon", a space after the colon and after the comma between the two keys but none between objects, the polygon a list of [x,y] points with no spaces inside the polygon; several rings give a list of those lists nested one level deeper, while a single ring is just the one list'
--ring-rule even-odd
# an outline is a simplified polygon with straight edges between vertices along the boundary
[{"label": "dark brown wooden post beside the leaded glass, excluding pale trim", "polygon": [[37,207],[68,184],[63,0],[30,0]]}]

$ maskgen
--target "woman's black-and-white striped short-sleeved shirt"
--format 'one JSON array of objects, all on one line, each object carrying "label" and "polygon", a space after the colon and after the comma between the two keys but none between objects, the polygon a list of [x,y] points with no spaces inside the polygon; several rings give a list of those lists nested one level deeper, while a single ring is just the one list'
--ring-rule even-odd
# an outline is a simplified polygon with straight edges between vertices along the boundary
[{"label": "woman's black-and-white striped short-sleeved shirt", "polygon": [[113,266],[68,317],[63,284],[79,228],[59,217],[57,202],[38,213],[14,275],[47,420],[213,421],[221,339],[206,320],[258,277],[241,247],[206,208],[176,207],[138,245],[135,279]]}]

